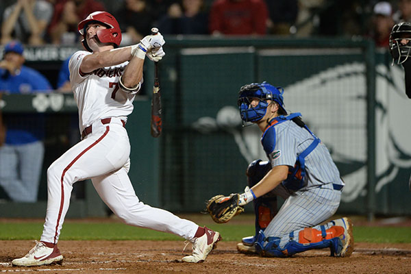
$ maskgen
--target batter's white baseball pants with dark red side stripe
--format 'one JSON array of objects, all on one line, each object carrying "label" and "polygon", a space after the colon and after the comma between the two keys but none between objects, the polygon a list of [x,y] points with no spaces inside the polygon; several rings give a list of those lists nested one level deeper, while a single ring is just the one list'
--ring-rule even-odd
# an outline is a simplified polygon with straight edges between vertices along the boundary
[{"label": "batter's white baseball pants with dark red side stripe", "polygon": [[140,202],[127,175],[130,145],[120,119],[103,125],[66,151],[47,170],[47,215],[40,240],[57,243],[77,181],[91,178],[107,206],[128,225],[169,232],[191,240],[198,225]]}]

